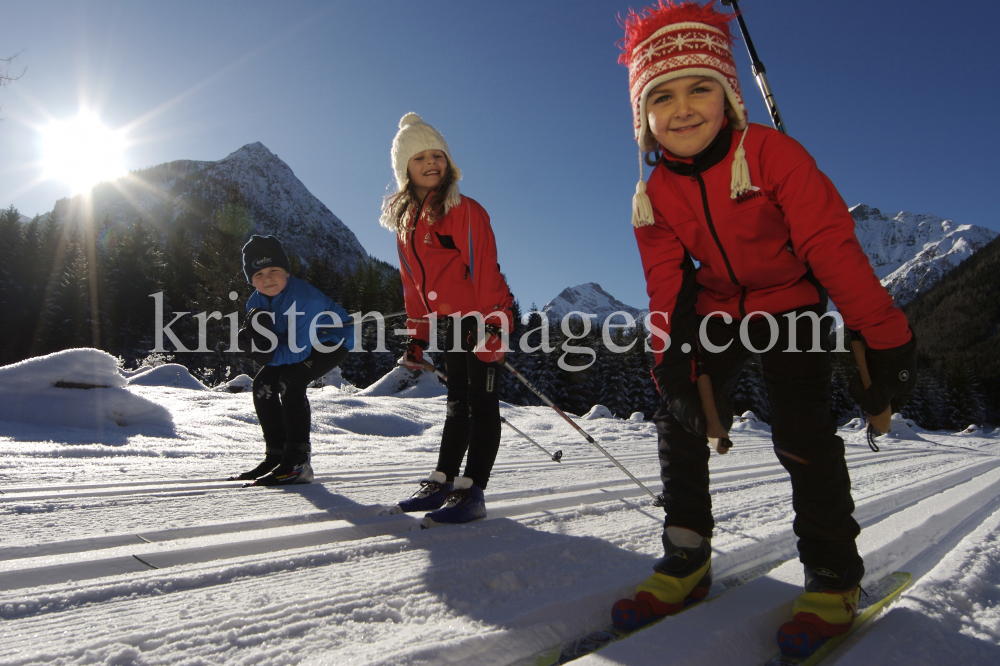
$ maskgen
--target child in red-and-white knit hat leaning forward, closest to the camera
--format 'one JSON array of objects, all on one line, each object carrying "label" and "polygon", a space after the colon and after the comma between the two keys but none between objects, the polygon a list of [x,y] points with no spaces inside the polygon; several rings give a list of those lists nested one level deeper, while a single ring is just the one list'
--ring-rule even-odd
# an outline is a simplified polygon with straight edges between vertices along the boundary
[{"label": "child in red-and-white knit hat leaning forward, closest to the camera", "polygon": [[874,383],[865,391],[856,380],[852,389],[867,413],[912,390],[915,344],[833,184],[795,140],[747,123],[732,15],[714,5],[661,0],[625,22],[621,62],[629,68],[635,135],[655,165],[636,188],[632,222],[652,324],[669,335],[653,371],[662,396],[654,421],[666,520],[656,573],[613,615],[622,627],[640,626],[708,593],[714,521],[695,382],[710,377],[728,429],[727,396],[759,353],[774,450],[791,475],[806,580],[779,640],[801,639],[808,649],[851,626],[864,576],[844,443],[831,412],[830,357],[814,342],[829,339],[827,295],[867,342]]}]

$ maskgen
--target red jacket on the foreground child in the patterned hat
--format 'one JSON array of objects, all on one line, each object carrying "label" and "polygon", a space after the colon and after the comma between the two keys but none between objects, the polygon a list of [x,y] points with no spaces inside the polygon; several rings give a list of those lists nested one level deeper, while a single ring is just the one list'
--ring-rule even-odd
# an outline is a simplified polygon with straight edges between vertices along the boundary
[{"label": "red jacket on the foreground child in the patterned hat", "polygon": [[[654,315],[653,324],[667,333],[679,324],[693,331],[684,320],[695,314],[722,311],[739,321],[755,311],[815,305],[818,280],[871,348],[908,342],[906,316],[875,277],[847,205],[797,141],[751,124],[743,146],[753,188],[730,198],[741,135],[726,126],[713,146],[665,161],[649,178],[654,224],[635,237],[650,311],[669,313],[666,320]],[[697,272],[687,255],[700,263]],[[681,342],[672,340],[671,351]]]}]

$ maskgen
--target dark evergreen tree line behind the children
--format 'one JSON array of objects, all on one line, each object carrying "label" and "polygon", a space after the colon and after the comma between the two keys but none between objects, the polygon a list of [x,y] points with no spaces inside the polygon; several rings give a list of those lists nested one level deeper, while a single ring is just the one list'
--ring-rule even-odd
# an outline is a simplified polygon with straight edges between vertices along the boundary
[{"label": "dark evergreen tree line behind the children", "polygon": [[[244,304],[252,293],[242,272],[241,248],[255,222],[238,188],[231,188],[226,202],[210,219],[181,215],[166,233],[157,232],[142,219],[116,225],[105,219],[88,229],[71,221],[57,206],[45,218],[21,225],[13,206],[0,212],[0,364],[49,354],[73,347],[95,347],[121,357],[134,366],[148,359],[156,341],[154,299],[162,292],[163,322],[186,312],[170,330],[188,350],[179,351],[173,341],[163,342],[168,358],[186,366],[193,375],[213,386],[245,373],[253,376],[257,366],[239,354],[226,352],[232,344],[228,320],[208,320],[207,313],[237,313],[242,323]],[[292,273],[316,286],[349,313],[391,313],[403,310],[399,270],[386,262],[368,259],[354,273],[344,275],[322,259],[308,267],[289,253]],[[230,298],[235,294],[236,298]],[[646,332],[640,328],[617,329],[610,335],[618,348],[605,344],[600,329],[583,337],[579,320],[570,322],[576,339],[568,340],[561,322],[549,322],[551,353],[537,349],[521,351],[519,341],[527,335],[527,346],[542,344],[543,318],[532,306],[527,322],[521,322],[515,303],[512,351],[508,360],[541,392],[568,413],[584,414],[595,404],[627,418],[642,412],[647,418],[659,406],[650,376],[654,364],[645,350]],[[440,322],[439,346],[444,348],[445,321]],[[405,327],[405,317],[386,320],[380,336],[374,323],[366,323],[358,341],[365,350],[352,353],[341,368],[345,379],[364,388],[384,376],[402,355],[406,338],[393,333]],[[199,347],[199,328],[205,344]],[[383,340],[379,351],[379,338]],[[572,347],[569,353],[564,344]],[[435,361],[443,369],[443,355]],[[561,365],[560,365],[561,362]],[[567,366],[586,369],[573,371]],[[847,385],[854,374],[848,353],[834,354],[833,410],[838,423],[860,416],[850,399]],[[511,373],[503,373],[501,397],[515,405],[539,405],[534,396]],[[753,411],[770,422],[771,412],[760,360],[754,357],[744,368],[731,393],[734,412]],[[924,362],[913,398],[903,410],[925,429],[963,429],[972,423],[993,423],[995,409],[973,368],[952,364],[937,368]]]}]

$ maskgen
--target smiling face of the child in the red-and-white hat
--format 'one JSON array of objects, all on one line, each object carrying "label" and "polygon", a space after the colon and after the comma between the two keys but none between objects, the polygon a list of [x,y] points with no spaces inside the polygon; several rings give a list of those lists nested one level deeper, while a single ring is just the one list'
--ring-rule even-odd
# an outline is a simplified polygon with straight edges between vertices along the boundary
[{"label": "smiling face of the child in the red-and-white hat", "polygon": [[684,76],[661,83],[646,97],[649,131],[676,157],[707,148],[725,118],[726,92],[715,79]]}]

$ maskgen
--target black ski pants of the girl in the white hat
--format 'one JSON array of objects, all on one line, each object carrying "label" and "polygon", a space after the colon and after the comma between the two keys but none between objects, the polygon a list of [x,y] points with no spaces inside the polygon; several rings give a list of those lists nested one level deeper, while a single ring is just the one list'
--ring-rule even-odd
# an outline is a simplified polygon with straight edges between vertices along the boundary
[{"label": "black ski pants of the girl in the white hat", "polygon": [[446,349],[449,351],[444,353],[448,412],[436,469],[449,480],[453,479],[458,476],[462,458],[468,451],[465,476],[485,489],[500,449],[501,366],[483,363],[472,353],[477,326],[475,317],[462,319],[459,345],[454,344],[454,321],[448,320]]}]

